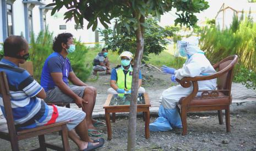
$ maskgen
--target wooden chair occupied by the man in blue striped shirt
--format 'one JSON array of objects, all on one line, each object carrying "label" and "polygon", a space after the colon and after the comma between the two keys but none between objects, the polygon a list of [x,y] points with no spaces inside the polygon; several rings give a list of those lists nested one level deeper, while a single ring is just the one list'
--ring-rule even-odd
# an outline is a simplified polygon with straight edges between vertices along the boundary
[{"label": "wooden chair occupied by the man in blue striped shirt", "polygon": [[[24,140],[26,138],[31,138],[38,136],[40,148],[35,150],[46,150],[47,148],[55,149],[55,150],[70,150],[68,143],[68,130],[67,130],[67,121],[47,125],[47,126],[39,126],[33,129],[26,129],[18,131],[15,128],[13,113],[10,104],[10,94],[9,94],[9,86],[7,82],[6,73],[0,72],[0,94],[2,95],[2,100],[4,104],[4,111],[6,114],[7,124],[0,125],[0,138],[10,141],[12,146],[12,150],[19,150],[18,141]],[[62,144],[63,148],[46,143],[45,142],[45,134],[59,131],[62,134]]]}]

